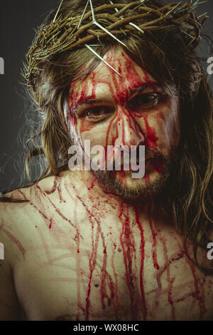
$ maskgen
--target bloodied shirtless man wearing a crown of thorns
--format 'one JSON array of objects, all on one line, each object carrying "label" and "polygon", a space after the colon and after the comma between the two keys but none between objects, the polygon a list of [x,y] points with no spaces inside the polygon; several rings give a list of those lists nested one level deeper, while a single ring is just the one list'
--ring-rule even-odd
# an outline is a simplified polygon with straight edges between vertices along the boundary
[{"label": "bloodied shirtless man wearing a crown of thorns", "polygon": [[[43,153],[48,168],[1,197],[1,319],[213,319],[200,22],[192,5],[126,4],[62,1],[28,53],[43,120],[29,158]],[[124,169],[124,155],[121,170],[70,171],[68,149],[84,153],[85,140],[133,146],[137,164],[145,146],[144,176]]]}]

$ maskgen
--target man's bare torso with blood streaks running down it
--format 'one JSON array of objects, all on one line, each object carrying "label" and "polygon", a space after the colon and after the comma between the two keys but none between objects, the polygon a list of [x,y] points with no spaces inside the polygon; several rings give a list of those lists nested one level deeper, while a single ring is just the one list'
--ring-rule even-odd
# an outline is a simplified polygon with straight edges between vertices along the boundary
[{"label": "man's bare torso with blood streaks running down it", "polygon": [[93,187],[64,172],[11,195],[28,203],[0,204],[26,319],[213,319],[213,278],[174,225]]}]

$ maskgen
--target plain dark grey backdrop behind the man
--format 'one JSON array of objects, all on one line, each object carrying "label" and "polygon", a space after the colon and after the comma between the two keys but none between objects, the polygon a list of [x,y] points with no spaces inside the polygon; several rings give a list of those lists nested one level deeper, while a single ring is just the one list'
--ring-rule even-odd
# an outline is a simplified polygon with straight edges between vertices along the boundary
[{"label": "plain dark grey backdrop behind the man", "polygon": [[[165,1],[165,3],[168,2],[170,1]],[[21,139],[23,141],[23,133],[28,130],[25,124],[27,103],[26,95],[21,86],[23,81],[21,67],[35,35],[33,29],[36,29],[43,22],[50,9],[56,4],[58,4],[58,0],[1,1],[0,57],[4,58],[5,63],[4,75],[0,75],[1,191],[18,187],[21,182],[24,161]],[[205,33],[213,38],[213,0],[200,4],[199,9],[197,9],[199,14],[206,11],[210,19],[205,25]],[[206,58],[210,56],[207,46],[203,47],[200,56]],[[207,71],[207,62],[204,61],[203,64],[204,71]],[[211,86],[212,77],[210,78]]]}]

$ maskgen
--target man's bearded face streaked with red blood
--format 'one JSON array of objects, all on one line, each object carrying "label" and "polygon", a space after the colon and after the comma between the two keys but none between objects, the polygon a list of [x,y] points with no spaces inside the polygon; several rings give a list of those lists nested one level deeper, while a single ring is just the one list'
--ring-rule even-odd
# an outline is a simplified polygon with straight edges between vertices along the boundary
[{"label": "man's bearded face streaked with red blood", "polygon": [[[70,86],[68,125],[73,143],[84,147],[145,145],[143,178],[132,171],[98,170],[105,190],[125,199],[146,199],[158,194],[170,173],[180,138],[178,98],[166,95],[157,81],[121,48],[109,50],[86,78]],[[105,158],[106,159],[106,156]]]}]

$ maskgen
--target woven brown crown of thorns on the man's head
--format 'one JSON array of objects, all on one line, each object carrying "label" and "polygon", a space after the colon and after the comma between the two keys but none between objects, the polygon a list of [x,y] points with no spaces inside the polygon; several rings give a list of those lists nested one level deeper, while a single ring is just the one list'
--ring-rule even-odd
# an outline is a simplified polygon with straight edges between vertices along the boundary
[{"label": "woven brown crown of thorns on the man's head", "polygon": [[[36,37],[33,41],[28,54],[26,55],[27,64],[24,64],[23,77],[26,79],[26,85],[34,87],[36,80],[42,71],[40,64],[59,53],[71,50],[76,47],[87,47],[95,56],[104,59],[89,45],[89,41],[94,39],[99,44],[100,39],[104,36],[110,36],[117,42],[125,46],[125,43],[119,39],[119,36],[133,31],[139,31],[141,35],[147,31],[156,31],[160,29],[178,28],[187,35],[187,46],[195,48],[200,42],[200,30],[204,21],[208,18],[205,14],[203,20],[200,16],[195,15],[195,7],[200,4],[199,0],[192,4],[170,3],[166,6],[157,7],[150,3],[149,0],[132,1],[129,4],[104,4],[94,7],[92,0],[88,0],[81,16],[66,16],[62,18],[60,2],[55,18],[50,24],[40,27],[36,31]],[[113,14],[111,14],[111,9]],[[107,13],[107,11],[110,10]],[[131,12],[137,10],[137,15]],[[140,19],[146,17],[146,22],[138,24]],[[153,19],[154,18],[154,19]],[[137,22],[137,24],[136,24]],[[104,63],[107,63],[104,61]],[[109,63],[107,66],[112,68]],[[112,68],[118,73],[114,68]],[[118,73],[120,74],[120,73]]]}]

